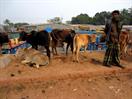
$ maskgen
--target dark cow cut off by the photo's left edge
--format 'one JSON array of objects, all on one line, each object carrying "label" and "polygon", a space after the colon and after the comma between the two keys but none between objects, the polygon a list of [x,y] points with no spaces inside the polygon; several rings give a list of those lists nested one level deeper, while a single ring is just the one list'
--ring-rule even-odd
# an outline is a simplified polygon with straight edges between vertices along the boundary
[{"label": "dark cow cut off by the photo's left edge", "polygon": [[8,34],[7,33],[0,33],[0,53],[1,53],[1,50],[2,50],[2,45],[4,43],[8,43],[10,48],[12,47],[10,39],[8,37]]}]

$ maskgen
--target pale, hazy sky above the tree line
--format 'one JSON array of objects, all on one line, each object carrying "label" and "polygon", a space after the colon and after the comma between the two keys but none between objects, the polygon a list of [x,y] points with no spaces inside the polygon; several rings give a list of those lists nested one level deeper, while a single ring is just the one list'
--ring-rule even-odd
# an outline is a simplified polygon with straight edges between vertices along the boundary
[{"label": "pale, hazy sky above the tree line", "polygon": [[11,22],[45,23],[62,17],[63,22],[81,13],[94,16],[97,12],[132,7],[132,0],[0,0],[0,24]]}]

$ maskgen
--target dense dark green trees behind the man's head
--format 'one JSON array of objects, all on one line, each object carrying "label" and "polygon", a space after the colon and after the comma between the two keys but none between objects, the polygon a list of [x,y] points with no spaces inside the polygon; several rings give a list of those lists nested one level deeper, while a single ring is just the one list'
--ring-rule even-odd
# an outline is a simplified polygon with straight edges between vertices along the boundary
[{"label": "dense dark green trees behind the man's head", "polygon": [[[121,21],[125,25],[132,25],[132,8],[123,9],[120,11]],[[96,13],[94,17],[89,17],[87,14],[80,14],[72,17],[71,24],[93,24],[104,25],[107,19],[110,19],[111,12],[102,11]]]}]

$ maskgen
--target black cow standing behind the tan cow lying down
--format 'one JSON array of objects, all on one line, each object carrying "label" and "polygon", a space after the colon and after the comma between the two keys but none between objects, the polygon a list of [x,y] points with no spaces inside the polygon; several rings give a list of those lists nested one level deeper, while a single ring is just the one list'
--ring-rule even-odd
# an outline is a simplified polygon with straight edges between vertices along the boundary
[{"label": "black cow standing behind the tan cow lying down", "polygon": [[31,33],[26,33],[25,31],[22,31],[19,39],[31,44],[32,48],[36,50],[38,49],[38,45],[44,46],[47,51],[47,56],[50,60],[50,36],[47,31],[42,30],[37,32],[33,30],[31,31]]}]

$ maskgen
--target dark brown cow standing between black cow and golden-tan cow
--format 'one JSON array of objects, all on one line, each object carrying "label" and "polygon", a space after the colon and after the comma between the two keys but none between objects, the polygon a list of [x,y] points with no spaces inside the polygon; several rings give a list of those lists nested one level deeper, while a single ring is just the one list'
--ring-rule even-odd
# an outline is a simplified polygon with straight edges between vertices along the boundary
[{"label": "dark brown cow standing between black cow and golden-tan cow", "polygon": [[[53,54],[58,54],[56,47],[58,46],[58,43],[66,42],[66,55],[68,55],[68,48],[71,47],[71,51],[73,52],[73,38],[75,36],[75,31],[72,29],[54,29],[51,32],[52,37],[52,52]],[[54,53],[55,51],[55,53]]]}]

